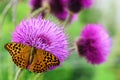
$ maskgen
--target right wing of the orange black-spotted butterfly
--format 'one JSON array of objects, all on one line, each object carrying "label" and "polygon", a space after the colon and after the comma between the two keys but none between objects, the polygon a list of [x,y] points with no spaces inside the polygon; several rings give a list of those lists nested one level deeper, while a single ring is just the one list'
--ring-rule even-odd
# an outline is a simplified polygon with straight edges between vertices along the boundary
[{"label": "right wing of the orange black-spotted butterfly", "polygon": [[33,62],[29,70],[32,72],[40,73],[45,72],[47,68],[59,65],[59,60],[51,53],[37,49]]}]

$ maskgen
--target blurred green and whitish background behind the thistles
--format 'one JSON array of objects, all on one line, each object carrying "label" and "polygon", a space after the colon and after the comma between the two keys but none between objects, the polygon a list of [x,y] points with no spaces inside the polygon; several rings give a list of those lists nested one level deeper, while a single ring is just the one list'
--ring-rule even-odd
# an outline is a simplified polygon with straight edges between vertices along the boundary
[{"label": "blurred green and whitish background behind the thistles", "polygon": [[[15,25],[25,19],[31,7],[28,0],[19,0],[6,15],[2,15],[10,0],[0,0],[0,80],[14,80],[18,67],[12,61],[4,45],[11,41]],[[109,31],[112,48],[107,62],[91,65],[73,51],[62,66],[48,71],[43,80],[120,80],[120,0],[94,0],[90,9],[82,10],[78,20],[67,27],[71,41],[75,41],[81,29],[87,23],[101,23]],[[13,14],[16,9],[16,13]],[[16,15],[15,15],[16,14]],[[103,35],[104,36],[104,35]],[[21,80],[33,80],[35,73],[24,70]],[[38,79],[41,80],[41,79]]]}]

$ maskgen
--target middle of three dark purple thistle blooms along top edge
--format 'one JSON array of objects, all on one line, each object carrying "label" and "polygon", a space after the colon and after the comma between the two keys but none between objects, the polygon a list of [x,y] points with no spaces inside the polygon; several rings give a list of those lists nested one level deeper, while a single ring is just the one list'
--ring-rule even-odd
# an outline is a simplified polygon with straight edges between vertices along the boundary
[{"label": "middle of three dark purple thistle blooms along top edge", "polygon": [[65,20],[68,17],[66,2],[67,0],[49,0],[51,13],[53,13],[60,20]]}]

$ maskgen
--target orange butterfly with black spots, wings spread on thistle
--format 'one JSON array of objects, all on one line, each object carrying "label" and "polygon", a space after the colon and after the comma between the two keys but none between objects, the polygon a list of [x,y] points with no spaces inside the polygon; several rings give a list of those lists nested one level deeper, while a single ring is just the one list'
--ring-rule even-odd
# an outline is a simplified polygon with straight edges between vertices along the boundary
[{"label": "orange butterfly with black spots, wings spread on thistle", "polygon": [[50,52],[26,44],[11,42],[5,45],[5,49],[18,67],[31,72],[45,72],[50,67],[60,64],[59,59]]}]

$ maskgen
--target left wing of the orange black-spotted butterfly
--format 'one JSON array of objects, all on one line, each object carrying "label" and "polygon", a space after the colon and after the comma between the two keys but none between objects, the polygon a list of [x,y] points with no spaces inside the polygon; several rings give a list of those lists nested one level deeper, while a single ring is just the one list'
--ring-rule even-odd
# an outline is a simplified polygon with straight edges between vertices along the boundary
[{"label": "left wing of the orange black-spotted butterfly", "polygon": [[8,43],[5,45],[12,56],[13,62],[20,68],[27,68],[31,47],[20,43]]}]

